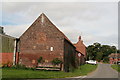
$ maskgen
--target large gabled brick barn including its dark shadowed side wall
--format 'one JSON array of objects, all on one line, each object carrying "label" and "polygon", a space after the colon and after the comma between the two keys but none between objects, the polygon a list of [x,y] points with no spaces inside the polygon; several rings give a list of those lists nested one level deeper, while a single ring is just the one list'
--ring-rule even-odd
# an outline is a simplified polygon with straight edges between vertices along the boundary
[{"label": "large gabled brick barn including its dark shadowed side wall", "polygon": [[59,58],[66,72],[77,65],[76,47],[43,13],[20,36],[18,51],[19,64],[28,67],[36,67],[39,57],[48,64]]}]

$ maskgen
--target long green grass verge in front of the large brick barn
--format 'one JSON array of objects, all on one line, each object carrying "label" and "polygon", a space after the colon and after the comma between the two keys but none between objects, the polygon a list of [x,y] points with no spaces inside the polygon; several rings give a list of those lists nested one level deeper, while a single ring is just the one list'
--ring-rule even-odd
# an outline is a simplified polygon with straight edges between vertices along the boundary
[{"label": "long green grass verge in front of the large brick barn", "polygon": [[83,76],[94,71],[97,65],[85,64],[80,66],[74,72],[63,72],[63,71],[41,71],[41,70],[22,70],[3,68],[3,78],[66,78],[74,76]]}]

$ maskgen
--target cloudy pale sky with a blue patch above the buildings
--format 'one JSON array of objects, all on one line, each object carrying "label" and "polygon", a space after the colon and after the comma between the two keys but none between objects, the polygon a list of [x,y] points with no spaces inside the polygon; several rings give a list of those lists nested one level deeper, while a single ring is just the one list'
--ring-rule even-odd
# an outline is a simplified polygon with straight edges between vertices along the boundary
[{"label": "cloudy pale sky with a blue patch above the buildings", "polygon": [[117,2],[3,2],[0,26],[20,37],[41,13],[73,43],[81,36],[86,46],[99,42],[118,47]]}]

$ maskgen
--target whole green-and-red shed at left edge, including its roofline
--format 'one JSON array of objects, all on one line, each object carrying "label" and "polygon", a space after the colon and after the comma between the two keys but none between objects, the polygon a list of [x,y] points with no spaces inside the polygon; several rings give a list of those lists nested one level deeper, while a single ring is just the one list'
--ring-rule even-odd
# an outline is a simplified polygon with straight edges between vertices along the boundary
[{"label": "whole green-and-red shed at left edge, including its roofline", "polygon": [[16,38],[6,35],[3,27],[0,27],[0,64],[12,66],[15,62]]}]

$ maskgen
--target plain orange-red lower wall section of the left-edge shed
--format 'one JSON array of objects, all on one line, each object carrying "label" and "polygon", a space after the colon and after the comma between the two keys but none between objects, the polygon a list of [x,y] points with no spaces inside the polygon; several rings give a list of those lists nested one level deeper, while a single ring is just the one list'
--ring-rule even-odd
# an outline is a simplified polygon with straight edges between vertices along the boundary
[{"label": "plain orange-red lower wall section of the left-edge shed", "polygon": [[13,63],[13,53],[0,53],[2,55],[2,59],[0,57],[0,63],[2,64],[8,64],[8,63]]}]

